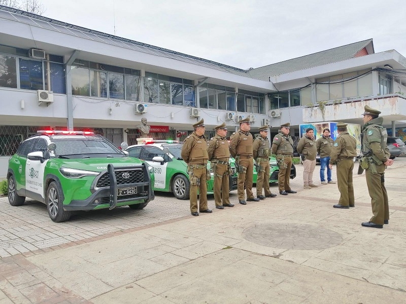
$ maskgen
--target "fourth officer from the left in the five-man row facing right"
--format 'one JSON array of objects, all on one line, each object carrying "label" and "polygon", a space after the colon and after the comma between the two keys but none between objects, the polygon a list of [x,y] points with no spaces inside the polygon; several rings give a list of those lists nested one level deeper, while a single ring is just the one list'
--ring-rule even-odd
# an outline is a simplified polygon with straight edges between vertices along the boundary
[{"label": "fourth officer from the left in the five-man row facing right", "polygon": [[[258,129],[259,134],[255,137],[252,148],[257,171],[257,198],[261,200],[276,197],[276,194],[272,194],[269,189],[270,145],[267,137],[268,128],[267,125],[264,125]],[[264,196],[262,195],[262,187],[265,194]]]}]

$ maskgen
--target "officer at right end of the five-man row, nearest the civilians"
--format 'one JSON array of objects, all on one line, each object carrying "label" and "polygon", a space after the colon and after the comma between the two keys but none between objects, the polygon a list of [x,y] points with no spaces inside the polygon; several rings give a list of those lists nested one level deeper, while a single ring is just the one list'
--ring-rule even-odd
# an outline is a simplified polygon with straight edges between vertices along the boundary
[{"label": "officer at right end of the five-man row, nearest the civilians", "polygon": [[279,166],[278,185],[281,195],[296,193],[289,186],[290,169],[292,168],[293,140],[289,135],[290,123],[281,125],[279,133],[272,141],[272,154],[276,154],[276,160]]}]

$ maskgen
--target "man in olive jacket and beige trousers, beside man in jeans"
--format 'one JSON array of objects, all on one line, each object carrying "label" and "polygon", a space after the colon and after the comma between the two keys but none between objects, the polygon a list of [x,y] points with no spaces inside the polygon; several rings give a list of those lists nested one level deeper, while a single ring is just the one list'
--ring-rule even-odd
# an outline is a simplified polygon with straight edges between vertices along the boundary
[{"label": "man in olive jacket and beige trousers, beside man in jeans", "polygon": [[[297,153],[304,157],[303,161],[303,188],[311,189],[316,188],[313,183],[313,172],[316,168],[316,140],[314,139],[314,130],[312,128],[306,129],[306,135],[300,138],[297,143]],[[303,160],[303,159],[302,159]]]}]

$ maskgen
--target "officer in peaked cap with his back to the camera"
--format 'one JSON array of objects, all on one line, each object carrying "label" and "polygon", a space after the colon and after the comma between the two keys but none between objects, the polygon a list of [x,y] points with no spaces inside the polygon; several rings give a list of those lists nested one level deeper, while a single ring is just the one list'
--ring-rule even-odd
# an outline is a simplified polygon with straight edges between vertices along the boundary
[{"label": "officer in peaked cap with his back to the camera", "polygon": [[357,141],[347,131],[347,124],[338,123],[339,136],[334,141],[330,153],[330,170],[337,166],[337,183],[340,191],[339,203],[334,208],[348,209],[355,207],[354,186],[352,183],[352,170],[354,157],[357,156]]}]

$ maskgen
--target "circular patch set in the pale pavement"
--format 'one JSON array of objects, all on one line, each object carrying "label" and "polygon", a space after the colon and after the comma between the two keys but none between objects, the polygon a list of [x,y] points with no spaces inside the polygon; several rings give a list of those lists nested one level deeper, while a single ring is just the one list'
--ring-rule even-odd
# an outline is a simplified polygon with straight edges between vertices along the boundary
[{"label": "circular patch set in the pale pavement", "polygon": [[258,223],[243,231],[249,242],[283,249],[325,249],[339,245],[343,238],[331,230],[312,226]]}]

